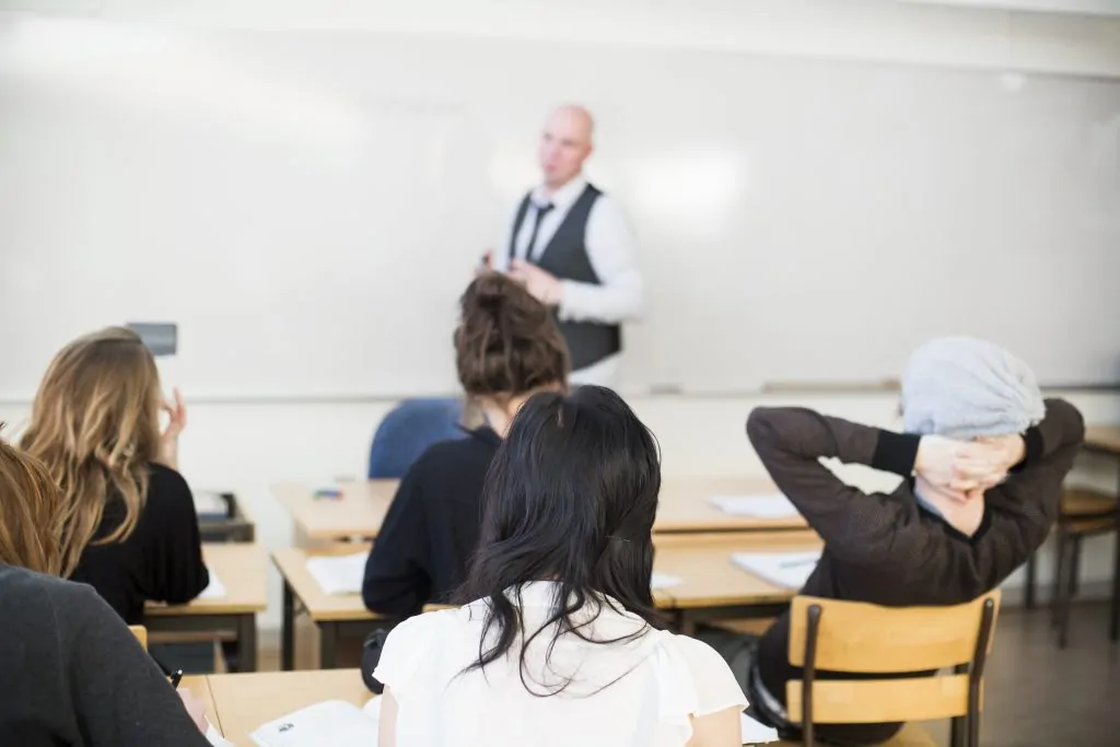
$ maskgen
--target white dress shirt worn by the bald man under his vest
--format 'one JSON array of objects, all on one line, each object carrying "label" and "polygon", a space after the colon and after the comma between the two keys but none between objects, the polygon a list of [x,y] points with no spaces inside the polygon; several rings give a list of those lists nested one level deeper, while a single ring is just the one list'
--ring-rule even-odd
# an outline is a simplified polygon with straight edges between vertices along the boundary
[{"label": "white dress shirt worn by the bald man under his vest", "polygon": [[[557,228],[568,216],[568,211],[584,194],[586,187],[587,180],[582,176],[577,176],[551,195],[545,193],[543,186],[533,189],[525,220],[522,221],[521,230],[517,232],[514,255],[519,259],[528,256],[534,261],[539,260],[556,235]],[[552,204],[552,209],[541,218],[536,241],[533,246],[529,246],[538,209],[549,203]],[[519,202],[517,206],[520,205]],[[494,251],[494,269],[502,272],[508,269],[510,240],[515,216],[516,208],[506,222],[502,243]],[[642,315],[643,289],[634,235],[618,203],[609,195],[599,195],[591,206],[587,218],[585,244],[591,269],[595,270],[601,284],[560,278],[563,284],[563,298],[558,309],[560,320],[619,324],[637,319]],[[571,383],[615,386],[618,380],[619,357],[612,355],[581,371],[572,372]]]}]

